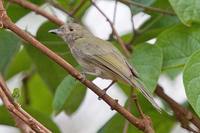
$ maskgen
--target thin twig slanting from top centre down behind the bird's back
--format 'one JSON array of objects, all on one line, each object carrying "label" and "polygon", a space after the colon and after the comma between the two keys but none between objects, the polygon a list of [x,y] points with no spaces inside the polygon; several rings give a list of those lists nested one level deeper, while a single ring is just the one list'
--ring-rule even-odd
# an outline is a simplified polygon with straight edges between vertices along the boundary
[{"label": "thin twig slanting from top centre down behind the bird's back", "polygon": [[124,54],[129,57],[130,56],[130,52],[128,51],[128,49],[126,48],[126,45],[124,43],[124,41],[121,39],[121,37],[119,36],[119,34],[117,33],[112,21],[106,16],[106,14],[96,5],[95,2],[93,2],[92,0],[90,0],[92,5],[94,7],[96,7],[96,9],[106,18],[106,20],[108,21],[108,23],[110,24],[110,27],[112,28],[112,31],[114,33],[114,35],[116,36],[117,38],[117,41],[119,42],[119,44],[121,45],[122,49],[123,49],[123,52]]}]

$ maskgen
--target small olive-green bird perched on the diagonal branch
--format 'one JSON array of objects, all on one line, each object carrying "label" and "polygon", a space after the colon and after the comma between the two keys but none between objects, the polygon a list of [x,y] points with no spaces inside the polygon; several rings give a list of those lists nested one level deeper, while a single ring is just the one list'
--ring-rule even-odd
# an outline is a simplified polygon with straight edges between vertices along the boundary
[{"label": "small olive-green bird perched on the diagonal branch", "polygon": [[69,46],[71,53],[82,66],[85,74],[113,81],[122,80],[138,88],[158,110],[152,94],[145,89],[137,72],[112,43],[95,37],[85,27],[68,23],[49,32],[60,36]]}]

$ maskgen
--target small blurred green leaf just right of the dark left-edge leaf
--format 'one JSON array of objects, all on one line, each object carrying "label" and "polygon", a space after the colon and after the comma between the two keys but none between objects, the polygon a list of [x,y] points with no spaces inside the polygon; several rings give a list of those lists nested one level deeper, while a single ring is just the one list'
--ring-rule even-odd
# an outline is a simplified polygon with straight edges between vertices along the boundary
[{"label": "small blurred green leaf just right of the dark left-edge leaf", "polygon": [[31,68],[31,66],[32,66],[32,61],[27,55],[26,50],[23,48],[12,59],[10,65],[7,68],[5,77],[6,79],[9,79],[19,72],[27,71],[28,69]]}]

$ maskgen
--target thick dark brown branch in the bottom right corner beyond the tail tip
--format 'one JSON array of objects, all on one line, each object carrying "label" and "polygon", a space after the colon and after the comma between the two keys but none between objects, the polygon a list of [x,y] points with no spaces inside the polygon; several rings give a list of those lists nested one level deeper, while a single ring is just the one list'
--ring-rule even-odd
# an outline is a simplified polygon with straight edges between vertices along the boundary
[{"label": "thick dark brown branch in the bottom right corner beyond the tail tip", "polygon": [[193,132],[194,129],[190,127],[190,123],[193,123],[198,128],[198,131],[196,132],[200,131],[200,119],[196,115],[192,114],[192,112],[182,107],[176,101],[166,95],[161,86],[157,86],[155,93],[169,104],[174,112],[174,115],[176,116],[176,119],[179,120],[183,128]]}]

